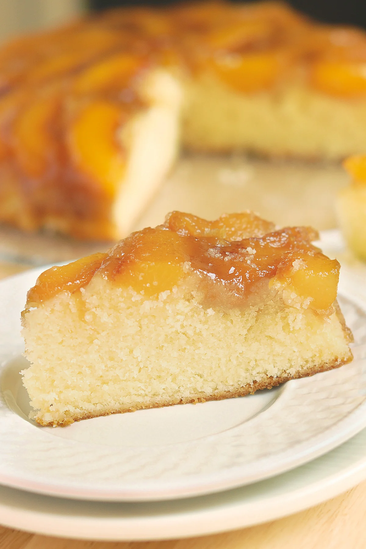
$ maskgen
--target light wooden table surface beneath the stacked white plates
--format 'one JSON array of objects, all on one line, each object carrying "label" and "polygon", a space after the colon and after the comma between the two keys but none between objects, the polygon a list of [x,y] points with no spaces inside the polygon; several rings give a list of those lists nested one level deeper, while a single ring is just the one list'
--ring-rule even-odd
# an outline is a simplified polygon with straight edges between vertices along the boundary
[{"label": "light wooden table surface beneath the stacked white plates", "polygon": [[[0,262],[0,278],[24,270]],[[365,549],[366,481],[307,511],[229,533],[172,541],[78,541],[0,526],[0,549]],[[0,516],[1,523],[1,516]]]}]

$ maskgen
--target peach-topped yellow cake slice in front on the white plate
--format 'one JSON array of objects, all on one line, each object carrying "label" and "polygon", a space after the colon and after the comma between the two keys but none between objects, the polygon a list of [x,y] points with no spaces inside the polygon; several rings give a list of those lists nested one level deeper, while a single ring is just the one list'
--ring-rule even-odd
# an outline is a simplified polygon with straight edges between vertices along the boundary
[{"label": "peach-topped yellow cake slice in front on the white plate", "polygon": [[339,263],[250,212],[164,225],[42,273],[22,313],[41,425],[225,399],[352,360]]}]

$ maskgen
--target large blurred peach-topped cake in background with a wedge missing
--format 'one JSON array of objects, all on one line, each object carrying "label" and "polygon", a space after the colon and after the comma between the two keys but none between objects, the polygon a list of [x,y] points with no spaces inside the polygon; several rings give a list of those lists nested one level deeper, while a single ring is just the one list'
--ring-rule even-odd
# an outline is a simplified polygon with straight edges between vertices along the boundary
[{"label": "large blurred peach-topped cake in background with a wedge missing", "polygon": [[124,237],[178,143],[306,159],[363,153],[365,62],[364,31],[274,2],[117,9],[9,42],[0,221]]}]

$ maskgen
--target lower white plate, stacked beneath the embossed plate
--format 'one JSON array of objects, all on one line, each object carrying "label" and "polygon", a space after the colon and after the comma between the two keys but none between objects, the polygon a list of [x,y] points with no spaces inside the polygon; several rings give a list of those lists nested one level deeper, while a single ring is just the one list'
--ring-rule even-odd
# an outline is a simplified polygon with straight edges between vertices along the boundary
[{"label": "lower white plate, stacked beneath the embossed plate", "polygon": [[366,478],[366,430],[277,477],[183,500],[104,503],[65,500],[0,486],[0,522],[88,540],[162,540],[215,534],[274,520],[335,497]]}]

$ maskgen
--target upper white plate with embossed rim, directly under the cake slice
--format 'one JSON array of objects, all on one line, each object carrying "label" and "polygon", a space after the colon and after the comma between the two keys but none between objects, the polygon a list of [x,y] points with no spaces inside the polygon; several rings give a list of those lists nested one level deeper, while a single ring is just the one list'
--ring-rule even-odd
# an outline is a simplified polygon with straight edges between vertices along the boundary
[{"label": "upper white plate with embossed rim, directly under the cake slice", "polygon": [[19,376],[24,368],[19,315],[40,272],[0,283],[4,485],[105,501],[208,494],[297,467],[366,426],[366,315],[352,300],[341,299],[359,345],[350,365],[240,399],[40,428],[27,419],[29,402]]}]

